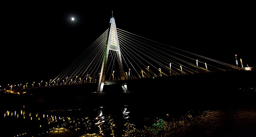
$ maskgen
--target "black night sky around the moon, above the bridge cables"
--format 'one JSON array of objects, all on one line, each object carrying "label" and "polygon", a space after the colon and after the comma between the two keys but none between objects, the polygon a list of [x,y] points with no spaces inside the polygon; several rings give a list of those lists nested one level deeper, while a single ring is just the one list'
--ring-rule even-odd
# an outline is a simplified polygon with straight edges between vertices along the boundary
[{"label": "black night sky around the moon, above the bridge cables", "polygon": [[256,65],[253,0],[11,1],[0,3],[0,85],[56,77],[108,29],[112,11],[119,29],[233,65],[236,54]]}]

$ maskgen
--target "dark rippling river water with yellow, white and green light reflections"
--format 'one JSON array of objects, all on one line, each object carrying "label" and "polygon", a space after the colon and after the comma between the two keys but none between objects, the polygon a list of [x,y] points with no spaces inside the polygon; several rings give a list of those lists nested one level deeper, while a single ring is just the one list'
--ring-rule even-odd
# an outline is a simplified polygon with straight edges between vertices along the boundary
[{"label": "dark rippling river water with yellow, white and green light reflections", "polygon": [[[139,112],[140,113],[140,112]],[[255,136],[255,108],[144,115],[105,106],[88,109],[1,111],[0,136],[12,137],[189,137]]]}]

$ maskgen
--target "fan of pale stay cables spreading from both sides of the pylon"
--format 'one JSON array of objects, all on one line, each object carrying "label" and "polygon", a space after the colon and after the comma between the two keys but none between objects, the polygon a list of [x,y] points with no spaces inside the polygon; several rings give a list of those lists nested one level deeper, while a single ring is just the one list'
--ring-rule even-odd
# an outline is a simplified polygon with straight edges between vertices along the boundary
[{"label": "fan of pale stay cables spreading from both sides of the pylon", "polygon": [[[126,79],[237,69],[237,66],[161,44],[118,28],[117,36]],[[108,29],[52,82],[57,81],[57,85],[98,82],[107,39]],[[119,67],[117,52],[110,50],[105,81],[121,80]]]}]

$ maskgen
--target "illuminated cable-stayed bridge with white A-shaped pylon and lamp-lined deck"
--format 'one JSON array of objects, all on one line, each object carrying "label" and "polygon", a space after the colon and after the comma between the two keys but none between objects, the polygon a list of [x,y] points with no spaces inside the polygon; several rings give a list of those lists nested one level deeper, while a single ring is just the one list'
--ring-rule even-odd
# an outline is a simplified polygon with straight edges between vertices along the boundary
[{"label": "illuminated cable-stayed bridge with white A-shaped pylon and lamp-lined deck", "polygon": [[251,69],[243,67],[242,60],[237,57],[234,64],[200,56],[118,29],[112,17],[109,28],[59,75],[49,80],[27,82],[22,86],[13,84],[15,86],[11,86],[9,91],[94,85],[91,91],[100,93],[106,85],[122,85],[123,92],[128,92],[128,81],[147,81],[151,84],[148,79],[174,79],[180,75],[196,76],[200,73]]}]

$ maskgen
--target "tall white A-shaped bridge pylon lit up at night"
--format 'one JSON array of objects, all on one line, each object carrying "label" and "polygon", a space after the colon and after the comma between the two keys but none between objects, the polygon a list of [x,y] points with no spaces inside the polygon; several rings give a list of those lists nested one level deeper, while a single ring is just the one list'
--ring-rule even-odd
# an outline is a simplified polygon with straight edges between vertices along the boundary
[{"label": "tall white A-shaped bridge pylon lit up at night", "polygon": [[[119,70],[120,70],[120,77],[121,77],[121,80],[124,80],[125,79],[124,68],[123,68],[123,63],[122,63],[122,58],[121,58],[120,47],[119,47],[119,43],[118,43],[116,23],[115,23],[114,17],[110,18],[109,29],[108,29],[108,38],[107,38],[106,46],[105,46],[105,50],[104,50],[103,61],[102,61],[102,66],[101,66],[101,74],[99,76],[99,84],[98,84],[97,92],[103,91],[105,75],[106,75],[106,67],[107,67],[107,63],[108,63],[109,50],[117,52],[116,55],[117,55],[117,60],[118,60],[118,65],[119,65]],[[127,88],[123,88],[123,91],[127,92]]]}]

